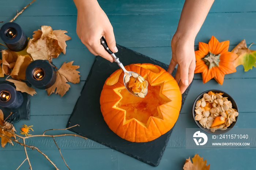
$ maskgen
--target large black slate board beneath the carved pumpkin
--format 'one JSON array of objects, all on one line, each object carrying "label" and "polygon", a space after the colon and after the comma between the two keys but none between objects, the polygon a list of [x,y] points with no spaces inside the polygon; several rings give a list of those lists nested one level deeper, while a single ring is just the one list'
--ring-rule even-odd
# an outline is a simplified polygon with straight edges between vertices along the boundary
[{"label": "large black slate board beneath the carved pumpkin", "polygon": [[[117,48],[116,56],[120,58],[124,66],[132,63],[152,63],[161,66],[165,70],[168,69],[168,65],[150,57],[120,45],[117,45]],[[79,124],[79,127],[69,130],[151,166],[158,166],[172,130],[150,142],[129,142],[111,131],[103,119],[99,97],[105,80],[117,69],[119,69],[117,63],[111,63],[99,56],[95,58],[90,74],[83,86],[81,96],[78,98],[69,118],[67,128]],[[175,73],[176,70],[173,75]],[[182,105],[187,97],[189,88],[182,95]]]}]

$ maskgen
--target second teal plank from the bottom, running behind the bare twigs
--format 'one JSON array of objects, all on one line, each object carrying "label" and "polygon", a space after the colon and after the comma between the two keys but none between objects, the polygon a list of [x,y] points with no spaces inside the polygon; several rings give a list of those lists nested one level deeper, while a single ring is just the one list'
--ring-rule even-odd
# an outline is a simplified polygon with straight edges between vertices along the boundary
[{"label": "second teal plank from the bottom, running behind the bare twigs", "polygon": [[[192,110],[192,109],[191,109]],[[239,112],[238,120],[234,128],[254,128],[254,122],[256,121],[256,117],[254,116],[256,113],[245,113]],[[248,119],[251,117],[251,119]],[[48,129],[63,129],[65,128],[67,121],[69,119],[69,115],[47,115],[47,116],[31,116],[29,121],[21,120],[18,123],[14,124],[16,128],[16,133],[19,134],[20,128],[23,124],[33,125],[33,130],[30,131],[29,134],[32,135],[41,135],[45,130]],[[246,122],[246,124],[244,124]],[[198,128],[195,124],[192,112],[181,113],[178,117],[176,125],[174,126],[172,135],[170,140],[167,144],[167,148],[185,148],[186,147],[186,128]],[[68,130],[56,130],[56,131],[49,131],[46,134],[50,135],[59,135],[59,134],[74,134]],[[251,136],[252,138],[252,136]],[[107,149],[108,147],[103,146],[97,142],[94,142],[90,139],[83,139],[75,136],[61,136],[56,137],[56,142],[58,146],[67,149],[67,150],[77,150],[77,149]],[[52,138],[50,137],[33,137],[26,139],[26,144],[33,145],[39,147],[43,150],[54,150],[55,143]],[[256,140],[252,138],[250,140],[251,146],[256,146]],[[110,149],[110,148],[109,148]],[[14,146],[11,144],[7,144],[5,148],[0,147],[1,151],[13,151],[13,150],[23,150],[23,147],[19,144],[14,143]]]}]

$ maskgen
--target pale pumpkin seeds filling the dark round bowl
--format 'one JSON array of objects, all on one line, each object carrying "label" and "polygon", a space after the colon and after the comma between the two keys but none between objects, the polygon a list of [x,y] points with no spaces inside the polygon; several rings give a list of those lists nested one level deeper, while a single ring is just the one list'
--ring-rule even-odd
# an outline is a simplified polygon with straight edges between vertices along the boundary
[{"label": "pale pumpkin seeds filling the dark round bowl", "polygon": [[[212,105],[210,111],[204,109],[207,104],[206,102]],[[227,127],[236,121],[236,117],[238,116],[237,110],[232,108],[231,101],[218,93],[211,95],[204,93],[203,98],[200,98],[196,102],[195,113],[195,120],[199,121],[204,128],[211,130],[211,132],[215,132],[215,130],[226,130]],[[215,117],[218,116],[221,116],[221,120],[225,119],[225,123],[211,127]]]}]

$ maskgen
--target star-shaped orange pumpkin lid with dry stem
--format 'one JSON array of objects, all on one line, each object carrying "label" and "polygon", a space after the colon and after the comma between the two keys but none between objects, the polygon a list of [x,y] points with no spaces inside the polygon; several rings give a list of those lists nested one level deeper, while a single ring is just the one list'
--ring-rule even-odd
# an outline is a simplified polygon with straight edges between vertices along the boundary
[{"label": "star-shaped orange pumpkin lid with dry stem", "polygon": [[227,51],[229,41],[219,42],[214,36],[208,44],[199,42],[199,50],[195,51],[195,73],[202,73],[203,83],[214,78],[219,84],[223,84],[225,74],[236,72],[232,61],[237,54]]}]

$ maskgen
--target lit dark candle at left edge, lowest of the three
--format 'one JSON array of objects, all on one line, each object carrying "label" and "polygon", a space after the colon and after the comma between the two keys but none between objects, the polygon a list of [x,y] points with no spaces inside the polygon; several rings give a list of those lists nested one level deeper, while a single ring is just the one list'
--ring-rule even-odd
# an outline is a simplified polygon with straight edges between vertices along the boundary
[{"label": "lit dark candle at left edge, lowest of the three", "polygon": [[0,107],[16,109],[23,103],[23,96],[10,84],[0,84]]}]

